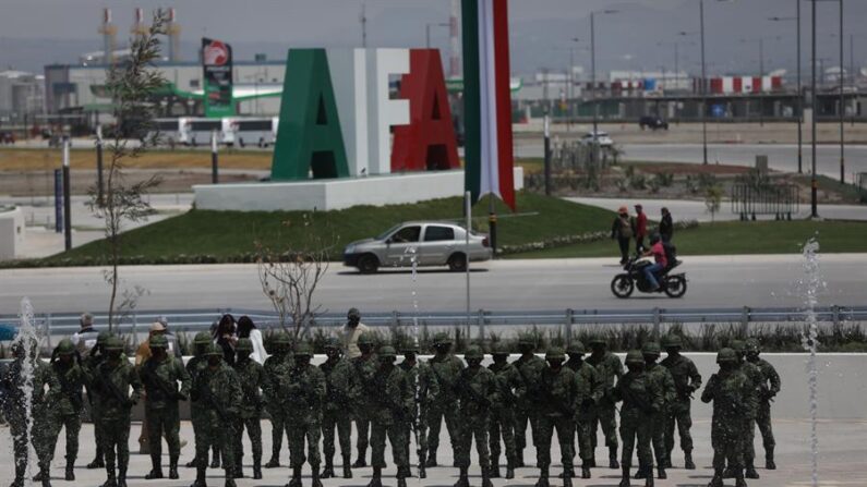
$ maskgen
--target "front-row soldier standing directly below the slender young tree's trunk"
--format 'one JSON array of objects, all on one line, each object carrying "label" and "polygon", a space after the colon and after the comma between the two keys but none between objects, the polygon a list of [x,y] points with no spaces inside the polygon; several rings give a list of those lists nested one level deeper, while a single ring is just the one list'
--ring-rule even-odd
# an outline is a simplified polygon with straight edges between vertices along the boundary
[{"label": "front-row soldier standing directly below the slender young tree's trunk", "polygon": [[106,340],[103,348],[106,360],[96,367],[93,377],[88,378],[91,390],[96,393],[94,402],[99,403],[99,422],[103,428],[103,452],[106,455],[107,472],[103,487],[127,487],[131,410],[142,397],[141,377],[127,360],[123,349],[123,340],[119,337]]}]

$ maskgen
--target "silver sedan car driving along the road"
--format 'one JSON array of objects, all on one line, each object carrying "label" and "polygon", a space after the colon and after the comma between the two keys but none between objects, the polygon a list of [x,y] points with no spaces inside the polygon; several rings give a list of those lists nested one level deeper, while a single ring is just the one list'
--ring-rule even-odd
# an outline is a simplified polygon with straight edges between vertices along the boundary
[{"label": "silver sedan car driving along the road", "polygon": [[[448,266],[450,270],[467,269],[471,261],[490,260],[493,251],[487,235],[470,232],[467,246],[463,227],[438,221],[408,221],[386,230],[374,239],[360,240],[344,249],[344,265],[363,273],[380,267]],[[469,248],[469,249],[468,249]]]}]

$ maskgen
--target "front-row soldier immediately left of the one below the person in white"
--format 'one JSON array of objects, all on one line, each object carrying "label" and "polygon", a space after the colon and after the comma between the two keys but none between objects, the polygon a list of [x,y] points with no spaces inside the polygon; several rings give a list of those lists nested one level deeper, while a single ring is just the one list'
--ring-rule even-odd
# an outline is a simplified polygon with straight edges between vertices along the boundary
[{"label": "front-row soldier immediately left of the one below the person in white", "polygon": [[220,446],[226,487],[234,487],[234,425],[238,423],[243,391],[234,369],[222,360],[222,350],[214,343],[205,352],[207,366],[193,376],[190,399],[202,407],[201,434],[196,437],[195,482],[191,487],[207,487],[207,454]]}]

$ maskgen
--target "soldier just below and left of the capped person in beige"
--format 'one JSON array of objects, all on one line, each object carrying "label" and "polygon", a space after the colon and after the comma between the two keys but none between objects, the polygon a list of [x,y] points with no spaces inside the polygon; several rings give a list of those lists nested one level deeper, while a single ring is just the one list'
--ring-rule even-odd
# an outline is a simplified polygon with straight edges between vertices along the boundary
[{"label": "soldier just below and left of the capped person in beige", "polygon": [[337,428],[337,437],[340,440],[340,455],[344,458],[344,478],[352,478],[351,459],[352,455],[352,419],[347,411],[351,403],[349,401],[349,389],[352,383],[352,364],[342,357],[342,345],[340,339],[332,337],[325,343],[325,355],[328,358],[320,365],[325,376],[325,404],[322,410],[322,436],[323,452],[325,453],[325,467],[322,470],[322,478],[336,477],[334,473],[334,430]]}]

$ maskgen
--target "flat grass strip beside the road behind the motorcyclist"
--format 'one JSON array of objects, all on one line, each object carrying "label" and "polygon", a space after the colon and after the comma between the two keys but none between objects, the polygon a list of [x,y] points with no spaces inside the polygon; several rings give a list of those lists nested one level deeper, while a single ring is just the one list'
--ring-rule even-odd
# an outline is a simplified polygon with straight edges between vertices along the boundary
[{"label": "flat grass strip beside the road behind the motorcyclist", "polygon": [[[674,234],[678,255],[794,254],[810,236],[821,252],[867,252],[867,222],[731,221],[702,223]],[[508,258],[615,257],[614,241],[568,245],[509,255]]]}]

